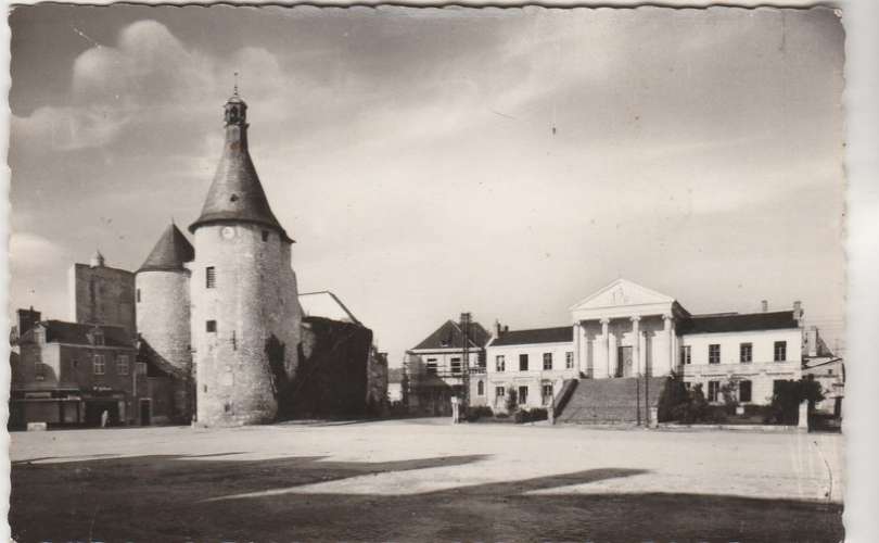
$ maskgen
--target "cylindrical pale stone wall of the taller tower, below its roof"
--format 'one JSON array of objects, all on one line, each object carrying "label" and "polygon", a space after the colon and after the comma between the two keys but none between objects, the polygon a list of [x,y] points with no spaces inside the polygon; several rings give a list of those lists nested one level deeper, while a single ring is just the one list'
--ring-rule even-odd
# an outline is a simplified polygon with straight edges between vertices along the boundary
[{"label": "cylindrical pale stone wall of the taller tower, below its roof", "polygon": [[[194,237],[189,268],[198,421],[272,421],[283,386],[276,381],[292,378],[297,366],[302,310],[290,243],[253,224],[202,226]],[[216,273],[214,288],[206,286],[208,266]],[[207,331],[209,320],[216,331]],[[283,368],[277,378],[270,357]]]}]

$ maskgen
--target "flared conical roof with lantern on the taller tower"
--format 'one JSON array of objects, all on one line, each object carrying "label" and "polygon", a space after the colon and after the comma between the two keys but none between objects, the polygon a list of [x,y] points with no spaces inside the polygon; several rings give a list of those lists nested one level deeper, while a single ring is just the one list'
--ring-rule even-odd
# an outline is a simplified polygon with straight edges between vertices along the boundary
[{"label": "flared conical roof with lantern on the taller tower", "polygon": [[237,94],[226,102],[226,142],[202,214],[190,227],[216,223],[254,223],[292,241],[269,207],[247,150],[246,103]]}]

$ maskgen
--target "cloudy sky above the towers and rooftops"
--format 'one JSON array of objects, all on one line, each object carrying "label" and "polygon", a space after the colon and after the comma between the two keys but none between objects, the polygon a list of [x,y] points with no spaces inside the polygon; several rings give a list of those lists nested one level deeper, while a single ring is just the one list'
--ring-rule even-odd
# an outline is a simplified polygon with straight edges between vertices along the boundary
[{"label": "cloudy sky above the towers and rooftops", "polygon": [[[12,308],[199,215],[233,73],[297,240],[393,364],[447,318],[570,321],[617,277],[692,313],[844,296],[830,10],[60,7],[11,17]],[[832,344],[832,343],[831,343]]]}]

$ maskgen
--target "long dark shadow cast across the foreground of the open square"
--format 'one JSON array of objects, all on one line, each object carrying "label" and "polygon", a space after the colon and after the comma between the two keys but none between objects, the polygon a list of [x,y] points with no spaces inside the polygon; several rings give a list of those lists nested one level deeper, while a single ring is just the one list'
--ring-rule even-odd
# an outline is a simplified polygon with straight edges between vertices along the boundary
[{"label": "long dark shadow cast across the foreground of the open square", "polygon": [[[635,469],[590,469],[411,495],[266,495],[277,489],[365,475],[464,465],[485,456],[387,463],[209,456],[14,463],[10,509],[13,536],[20,543],[463,539],[836,542],[843,533],[839,505],[691,494],[527,494],[644,472]],[[240,497],[242,494],[247,496]]]}]

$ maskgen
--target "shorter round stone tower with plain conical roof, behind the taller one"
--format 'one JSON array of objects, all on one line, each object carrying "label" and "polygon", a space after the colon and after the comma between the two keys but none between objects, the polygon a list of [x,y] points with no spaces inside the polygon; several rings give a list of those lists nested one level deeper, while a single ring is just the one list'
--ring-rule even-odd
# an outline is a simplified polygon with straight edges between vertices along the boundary
[{"label": "shorter round stone tower with plain conical roof, behind the taller one", "polygon": [[171,224],[135,276],[138,332],[160,356],[186,374],[192,370],[186,263],[194,256],[183,232]]}]

